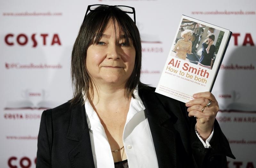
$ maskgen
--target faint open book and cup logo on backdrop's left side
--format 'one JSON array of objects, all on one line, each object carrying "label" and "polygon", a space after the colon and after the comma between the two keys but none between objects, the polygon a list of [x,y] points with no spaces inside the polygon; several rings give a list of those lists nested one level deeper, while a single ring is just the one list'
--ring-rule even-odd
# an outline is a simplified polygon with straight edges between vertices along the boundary
[{"label": "faint open book and cup logo on backdrop's left side", "polygon": [[49,97],[49,92],[42,90],[33,92],[26,89],[21,92],[20,100],[7,101],[5,110],[21,110],[21,109],[49,109],[54,108],[60,103],[46,100]]}]

